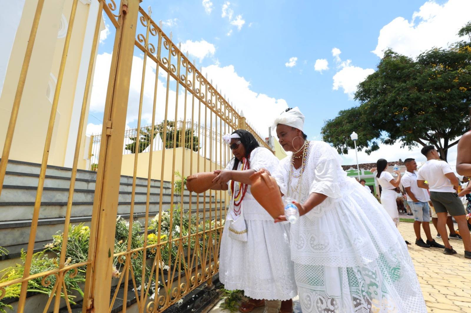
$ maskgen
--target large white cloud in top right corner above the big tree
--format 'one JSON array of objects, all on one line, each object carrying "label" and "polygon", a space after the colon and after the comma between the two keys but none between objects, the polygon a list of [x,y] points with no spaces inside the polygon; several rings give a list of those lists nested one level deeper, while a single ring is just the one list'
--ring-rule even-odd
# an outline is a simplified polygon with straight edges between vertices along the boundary
[{"label": "large white cloud in top right corner above the big tree", "polygon": [[448,0],[443,5],[429,0],[414,12],[410,22],[399,16],[385,25],[372,52],[382,58],[389,47],[415,57],[432,47],[447,47],[460,40],[456,33],[470,20],[470,12],[470,0]]}]

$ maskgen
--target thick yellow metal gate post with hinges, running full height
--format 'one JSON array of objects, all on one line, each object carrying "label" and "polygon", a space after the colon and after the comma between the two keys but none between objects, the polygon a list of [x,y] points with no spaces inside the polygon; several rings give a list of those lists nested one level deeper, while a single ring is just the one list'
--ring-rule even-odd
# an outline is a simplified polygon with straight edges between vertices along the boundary
[{"label": "thick yellow metal gate post with hinges, running full height", "polygon": [[90,264],[82,307],[82,312],[87,313],[109,311],[122,148],[139,2],[121,1],[114,39],[90,229]]}]

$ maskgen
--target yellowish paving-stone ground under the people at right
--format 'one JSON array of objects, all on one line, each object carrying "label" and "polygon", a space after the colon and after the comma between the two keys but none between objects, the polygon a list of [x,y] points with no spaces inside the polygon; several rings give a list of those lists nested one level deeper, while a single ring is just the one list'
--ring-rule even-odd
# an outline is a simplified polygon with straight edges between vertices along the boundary
[{"label": "yellowish paving-stone ground under the people at right", "polygon": [[[455,224],[456,227],[456,224]],[[437,235],[435,228],[430,225],[432,236]],[[414,245],[415,235],[412,223],[402,222],[399,231],[404,239],[412,243],[409,253],[414,261],[415,271],[419,278],[423,297],[429,312],[434,313],[471,313],[471,259],[464,258],[464,247],[461,240],[450,240],[450,244],[458,252],[453,256],[443,254],[443,249],[421,248]],[[425,235],[422,238],[425,241]],[[441,239],[435,238],[438,243]],[[211,309],[211,313],[227,313],[219,306]],[[262,313],[263,308],[257,308],[253,313]],[[299,299],[294,299],[294,312],[299,313]],[[411,312],[413,313],[413,312]]]}]

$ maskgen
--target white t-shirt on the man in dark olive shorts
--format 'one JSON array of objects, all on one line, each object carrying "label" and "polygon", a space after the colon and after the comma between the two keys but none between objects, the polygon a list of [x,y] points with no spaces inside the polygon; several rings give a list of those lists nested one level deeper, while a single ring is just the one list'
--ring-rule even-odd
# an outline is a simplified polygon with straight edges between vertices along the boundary
[{"label": "white t-shirt on the man in dark olive shorts", "polygon": [[455,192],[453,184],[445,174],[452,173],[450,165],[441,160],[428,160],[419,169],[417,180],[427,180],[429,190],[436,192]]}]

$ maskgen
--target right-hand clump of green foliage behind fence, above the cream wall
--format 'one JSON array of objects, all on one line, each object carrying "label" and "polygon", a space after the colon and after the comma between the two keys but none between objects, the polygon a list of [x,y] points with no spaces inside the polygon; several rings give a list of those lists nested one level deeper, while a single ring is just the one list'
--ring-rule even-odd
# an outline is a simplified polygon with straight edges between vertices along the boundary
[{"label": "right-hand clump of green foliage behind fence, above the cream wall", "polygon": [[[177,128],[175,134],[175,122],[167,120],[167,127],[165,128],[164,122],[156,125],[156,129],[159,132],[159,136],[163,141],[163,134],[165,133],[165,149],[172,149],[174,146],[174,137],[176,138],[175,148],[183,147],[183,141],[185,141],[185,148],[191,149],[193,142],[193,151],[197,152],[200,149],[198,136],[192,132],[190,128],[185,129],[185,134],[182,136],[182,128]],[[165,128],[165,129],[164,129]],[[184,137],[184,138],[183,138]]]}]

